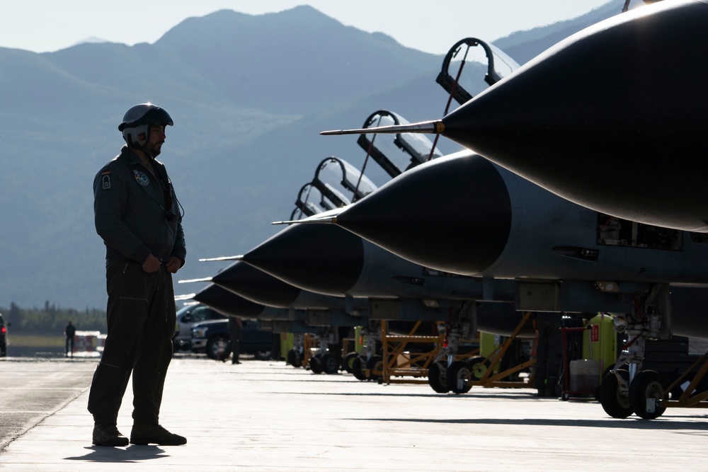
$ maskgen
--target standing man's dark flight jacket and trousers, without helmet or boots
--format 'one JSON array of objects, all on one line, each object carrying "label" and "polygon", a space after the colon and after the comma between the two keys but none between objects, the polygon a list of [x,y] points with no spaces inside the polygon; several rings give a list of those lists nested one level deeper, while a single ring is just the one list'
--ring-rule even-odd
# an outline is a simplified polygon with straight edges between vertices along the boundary
[{"label": "standing man's dark flight jacket and trousers, without helmet or boots", "polygon": [[[108,333],[93,374],[89,412],[115,425],[132,372],[135,424],[157,424],[176,323],[171,256],[185,260],[181,214],[164,164],[153,175],[123,146],[93,180],[96,232],[105,243]],[[162,263],[146,273],[149,254]]]}]

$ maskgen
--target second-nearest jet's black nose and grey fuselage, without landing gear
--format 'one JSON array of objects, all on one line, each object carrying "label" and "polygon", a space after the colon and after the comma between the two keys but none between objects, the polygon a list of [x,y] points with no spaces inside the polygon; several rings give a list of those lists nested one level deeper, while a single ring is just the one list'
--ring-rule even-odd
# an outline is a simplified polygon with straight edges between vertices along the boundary
[{"label": "second-nearest jet's black nose and grey fuselage, without landing gear", "polygon": [[333,213],[313,221],[461,275],[708,283],[702,234],[594,212],[470,151],[418,166]]}]

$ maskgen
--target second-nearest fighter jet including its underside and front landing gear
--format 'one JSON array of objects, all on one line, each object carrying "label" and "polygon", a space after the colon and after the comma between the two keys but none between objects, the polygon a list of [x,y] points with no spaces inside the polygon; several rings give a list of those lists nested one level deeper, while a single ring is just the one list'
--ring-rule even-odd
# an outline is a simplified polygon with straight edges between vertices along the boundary
[{"label": "second-nearest fighter jet including its underside and front landing gear", "polygon": [[[708,337],[697,316],[708,283],[704,235],[594,212],[469,151],[418,166],[312,221],[336,223],[427,267],[514,279],[518,309],[629,313],[633,343],[620,366],[641,364],[644,337]],[[608,402],[611,415],[634,411]],[[634,403],[645,418],[660,411]]]}]

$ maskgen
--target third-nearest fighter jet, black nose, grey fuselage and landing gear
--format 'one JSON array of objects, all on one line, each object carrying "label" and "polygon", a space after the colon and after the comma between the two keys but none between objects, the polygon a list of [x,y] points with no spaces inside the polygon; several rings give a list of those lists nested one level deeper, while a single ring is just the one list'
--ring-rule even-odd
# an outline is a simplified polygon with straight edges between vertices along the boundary
[{"label": "third-nearest fighter jet, black nose, grey fuselage and landing gear", "polygon": [[[507,323],[505,334],[508,335],[522,318],[511,303],[514,299],[512,281],[482,280],[426,270],[337,226],[293,224],[241,256],[241,260],[311,292],[345,300],[370,299],[372,320],[449,320],[447,339],[451,348],[459,345],[457,340],[464,338],[465,333],[473,333],[475,324],[477,329],[489,331],[486,321],[491,320],[498,330],[503,320]],[[484,301],[496,307],[484,306]],[[486,321],[476,316],[481,312],[489,313],[484,318]],[[515,322],[509,325],[513,314]],[[370,329],[368,333],[377,333],[377,330]],[[371,337],[367,347],[373,345]],[[447,352],[443,354],[430,369],[430,385],[441,393],[450,389],[455,393],[469,390],[464,379],[469,378],[470,366],[463,361],[448,365]],[[372,351],[365,355],[368,359],[360,359],[360,362],[365,362],[373,371],[380,370],[377,363],[382,362],[382,357]],[[353,364],[354,370],[356,365]]]}]

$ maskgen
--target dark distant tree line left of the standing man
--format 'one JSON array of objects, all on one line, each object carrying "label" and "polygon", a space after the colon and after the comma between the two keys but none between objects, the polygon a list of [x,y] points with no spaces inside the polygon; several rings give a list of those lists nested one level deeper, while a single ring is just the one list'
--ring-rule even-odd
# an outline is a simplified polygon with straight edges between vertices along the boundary
[{"label": "dark distant tree line left of the standing man", "polygon": [[105,333],[105,310],[89,309],[76,310],[59,308],[49,301],[41,308],[23,309],[11,302],[10,308],[0,306],[5,323],[12,323],[13,333],[25,334],[57,334],[64,333],[69,321],[77,330],[101,331]]}]

